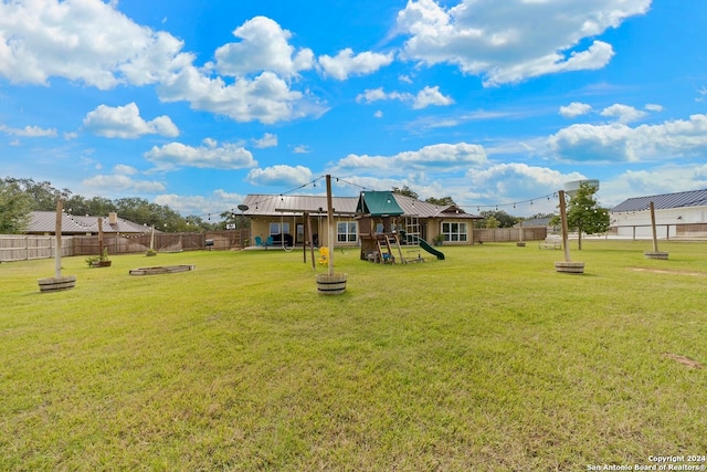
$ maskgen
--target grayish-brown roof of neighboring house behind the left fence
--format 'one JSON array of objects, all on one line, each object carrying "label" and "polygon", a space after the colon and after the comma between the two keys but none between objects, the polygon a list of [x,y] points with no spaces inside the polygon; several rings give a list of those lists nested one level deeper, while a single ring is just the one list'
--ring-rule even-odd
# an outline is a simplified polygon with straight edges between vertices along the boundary
[{"label": "grayish-brown roof of neighboring house behind the left fence", "polygon": [[[104,233],[135,234],[148,233],[150,228],[118,218],[116,213],[108,217],[77,217],[62,213],[62,234],[95,235],[98,234],[98,218],[102,219]],[[27,234],[54,234],[56,231],[55,211],[32,211]]]}]

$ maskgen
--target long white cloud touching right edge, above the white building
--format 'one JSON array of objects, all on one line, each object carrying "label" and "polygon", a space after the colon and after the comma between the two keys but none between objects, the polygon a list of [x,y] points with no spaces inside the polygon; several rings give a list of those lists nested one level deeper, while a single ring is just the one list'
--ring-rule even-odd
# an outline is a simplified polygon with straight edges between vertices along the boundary
[{"label": "long white cloud touching right edge, above the white building", "polygon": [[552,156],[570,161],[655,161],[707,155],[707,115],[632,128],[572,125],[547,140]]}]

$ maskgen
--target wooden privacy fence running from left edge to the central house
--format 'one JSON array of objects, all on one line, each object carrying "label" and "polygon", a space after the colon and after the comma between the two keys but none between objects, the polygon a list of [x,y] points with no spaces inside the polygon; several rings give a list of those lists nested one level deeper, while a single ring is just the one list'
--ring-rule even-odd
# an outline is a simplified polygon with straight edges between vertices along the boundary
[{"label": "wooden privacy fence running from left edge to the central house", "polygon": [[[241,239],[242,237],[242,239]],[[157,252],[242,249],[250,240],[249,230],[210,231],[205,233],[155,233]],[[0,262],[50,259],[54,256],[53,235],[0,235]],[[109,255],[136,254],[150,248],[150,234],[104,234],[103,247]],[[98,255],[97,235],[62,237],[62,256]]]}]

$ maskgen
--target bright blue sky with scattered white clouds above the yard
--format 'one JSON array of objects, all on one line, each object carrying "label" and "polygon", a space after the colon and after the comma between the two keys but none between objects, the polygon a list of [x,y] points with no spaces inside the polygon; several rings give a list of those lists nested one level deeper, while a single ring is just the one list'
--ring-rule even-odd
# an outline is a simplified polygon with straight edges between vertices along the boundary
[{"label": "bright blue sky with scattered white clouds above the yard", "polygon": [[517,216],[583,178],[606,207],[703,189],[706,20],[703,0],[1,0],[0,175],[184,216],[326,174]]}]

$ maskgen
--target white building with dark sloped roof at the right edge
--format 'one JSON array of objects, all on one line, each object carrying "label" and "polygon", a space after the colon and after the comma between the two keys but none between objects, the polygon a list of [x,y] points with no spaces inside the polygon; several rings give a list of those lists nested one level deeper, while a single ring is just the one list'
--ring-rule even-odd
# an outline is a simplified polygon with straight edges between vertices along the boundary
[{"label": "white building with dark sloped roof at the right edge", "polygon": [[707,189],[630,198],[609,212],[613,234],[653,238],[651,201],[658,238],[707,235]]}]

